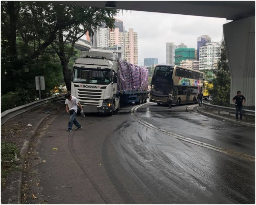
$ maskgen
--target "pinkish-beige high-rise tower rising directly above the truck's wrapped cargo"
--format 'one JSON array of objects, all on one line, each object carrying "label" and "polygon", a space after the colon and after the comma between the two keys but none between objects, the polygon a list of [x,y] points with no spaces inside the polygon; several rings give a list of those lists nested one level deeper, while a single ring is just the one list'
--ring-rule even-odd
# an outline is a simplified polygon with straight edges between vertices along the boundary
[{"label": "pinkish-beige high-rise tower rising directly above the truck's wrapped cargo", "polygon": [[138,36],[133,29],[125,31],[125,58],[132,64],[138,64]]}]

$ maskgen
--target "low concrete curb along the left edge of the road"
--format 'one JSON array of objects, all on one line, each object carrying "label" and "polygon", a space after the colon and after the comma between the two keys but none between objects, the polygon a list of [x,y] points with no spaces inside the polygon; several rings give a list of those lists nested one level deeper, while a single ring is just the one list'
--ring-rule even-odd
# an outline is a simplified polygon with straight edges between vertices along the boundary
[{"label": "low concrete curb along the left edge of the road", "polygon": [[34,127],[32,131],[27,134],[26,139],[24,140],[23,146],[20,151],[20,164],[17,166],[18,171],[11,172],[11,182],[9,186],[9,199],[8,204],[21,204],[21,193],[22,193],[22,178],[24,172],[25,158],[27,155],[27,151],[29,150],[29,145],[32,137],[34,137],[35,132],[38,127],[47,118],[50,114],[45,115],[39,123]]}]

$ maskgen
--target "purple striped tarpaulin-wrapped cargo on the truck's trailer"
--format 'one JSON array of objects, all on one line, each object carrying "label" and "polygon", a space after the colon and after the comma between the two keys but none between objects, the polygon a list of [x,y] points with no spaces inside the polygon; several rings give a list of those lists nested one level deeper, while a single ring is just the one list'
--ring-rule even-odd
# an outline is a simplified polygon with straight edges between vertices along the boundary
[{"label": "purple striped tarpaulin-wrapped cargo on the truck's trailer", "polygon": [[145,91],[148,89],[148,69],[119,60],[117,90]]}]

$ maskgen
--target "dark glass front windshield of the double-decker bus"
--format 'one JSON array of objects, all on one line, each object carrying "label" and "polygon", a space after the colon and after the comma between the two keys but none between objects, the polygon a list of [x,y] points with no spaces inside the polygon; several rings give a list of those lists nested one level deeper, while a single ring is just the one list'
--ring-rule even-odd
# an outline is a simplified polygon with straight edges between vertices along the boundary
[{"label": "dark glass front windshield of the double-decker bus", "polygon": [[173,67],[166,65],[157,65],[152,77],[151,92],[155,96],[166,96],[173,84]]}]

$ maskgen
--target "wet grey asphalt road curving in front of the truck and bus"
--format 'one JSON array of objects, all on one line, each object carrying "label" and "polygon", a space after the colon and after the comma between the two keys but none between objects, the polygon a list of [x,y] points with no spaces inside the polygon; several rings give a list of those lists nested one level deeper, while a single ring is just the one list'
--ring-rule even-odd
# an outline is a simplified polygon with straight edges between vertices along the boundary
[{"label": "wet grey asphalt road curving in front of the truck and bus", "polygon": [[255,129],[186,107],[78,116],[83,128],[71,133],[61,111],[38,137],[37,196],[49,204],[254,204]]}]

